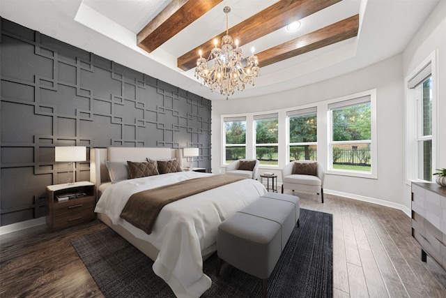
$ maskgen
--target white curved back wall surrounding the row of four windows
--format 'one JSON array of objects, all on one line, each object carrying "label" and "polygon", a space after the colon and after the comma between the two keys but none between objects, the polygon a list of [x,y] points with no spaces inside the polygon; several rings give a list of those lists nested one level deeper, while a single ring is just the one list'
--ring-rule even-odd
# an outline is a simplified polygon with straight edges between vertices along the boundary
[{"label": "white curved back wall surrounding the row of four windows", "polygon": [[[399,54],[353,73],[279,94],[241,100],[213,101],[213,172],[222,170],[220,161],[222,154],[220,116],[222,114],[240,114],[242,111],[265,112],[286,107],[298,107],[376,89],[378,179],[328,174],[325,177],[324,190],[325,193],[340,193],[371,202],[382,200],[386,201],[384,204],[402,208],[404,179],[402,64],[402,55]],[[279,152],[279,154],[281,153]],[[260,172],[263,171],[260,170]],[[279,171],[276,172],[279,174]]]}]

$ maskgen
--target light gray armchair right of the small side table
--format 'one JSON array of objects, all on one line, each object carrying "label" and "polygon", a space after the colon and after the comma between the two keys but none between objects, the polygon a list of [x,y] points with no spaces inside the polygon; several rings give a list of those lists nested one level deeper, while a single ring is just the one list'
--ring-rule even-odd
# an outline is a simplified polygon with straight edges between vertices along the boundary
[{"label": "light gray armchair right of the small side table", "polygon": [[312,174],[293,174],[295,163],[317,163],[315,161],[293,161],[282,169],[282,193],[284,188],[293,191],[307,191],[309,193],[321,193],[323,202],[323,181],[325,179],[325,170],[321,163],[316,165],[316,175]]}]

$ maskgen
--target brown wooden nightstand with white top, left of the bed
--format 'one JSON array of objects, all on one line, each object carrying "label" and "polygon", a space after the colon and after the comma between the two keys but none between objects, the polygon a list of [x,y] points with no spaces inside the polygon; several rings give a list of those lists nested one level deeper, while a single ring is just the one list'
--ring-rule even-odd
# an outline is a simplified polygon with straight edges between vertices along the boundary
[{"label": "brown wooden nightstand with white top, left of the bed", "polygon": [[47,225],[56,230],[96,218],[95,185],[89,181],[47,186]]}]

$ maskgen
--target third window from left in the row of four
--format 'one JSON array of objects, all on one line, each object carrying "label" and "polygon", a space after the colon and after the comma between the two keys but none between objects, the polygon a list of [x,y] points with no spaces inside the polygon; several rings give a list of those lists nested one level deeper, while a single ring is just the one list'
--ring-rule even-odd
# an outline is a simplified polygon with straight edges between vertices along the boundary
[{"label": "third window from left in the row of four", "polygon": [[289,161],[317,161],[316,107],[286,112],[289,127]]}]

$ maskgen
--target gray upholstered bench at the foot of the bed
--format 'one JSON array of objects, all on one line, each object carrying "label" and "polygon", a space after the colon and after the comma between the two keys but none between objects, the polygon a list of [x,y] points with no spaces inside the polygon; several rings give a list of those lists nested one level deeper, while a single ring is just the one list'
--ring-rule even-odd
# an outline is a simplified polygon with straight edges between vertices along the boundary
[{"label": "gray upholstered bench at the foot of the bed", "polygon": [[266,297],[268,278],[296,225],[299,198],[267,193],[220,224],[217,232],[217,276],[222,260],[262,279]]}]

